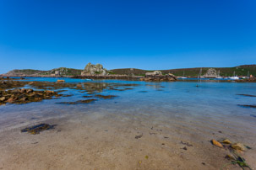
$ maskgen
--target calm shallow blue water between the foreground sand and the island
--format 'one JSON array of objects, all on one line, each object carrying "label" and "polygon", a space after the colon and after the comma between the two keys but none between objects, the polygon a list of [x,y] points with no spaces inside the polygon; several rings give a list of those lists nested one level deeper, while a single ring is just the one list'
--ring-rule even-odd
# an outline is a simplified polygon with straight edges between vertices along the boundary
[{"label": "calm shallow blue water between the foreground sand and the island", "polygon": [[[122,80],[86,81],[71,78],[28,78],[29,81],[56,82],[100,82],[117,84],[139,84],[125,91],[103,90],[101,94],[117,95],[113,99],[99,99],[91,104],[56,104],[74,102],[86,93],[68,89],[63,93],[72,97],[43,100],[40,103],[7,104],[0,106],[0,128],[26,122],[42,121],[49,118],[76,114],[118,114],[151,116],[150,121],[169,121],[188,124],[191,128],[209,131],[210,127],[226,128],[233,133],[253,134],[256,130],[256,109],[244,108],[237,104],[256,104],[256,98],[237,94],[256,95],[256,83],[237,82],[139,82]],[[25,81],[26,81],[25,80]],[[199,85],[199,87],[196,87]],[[140,117],[141,118],[141,117]],[[208,129],[209,128],[209,129]]]}]

